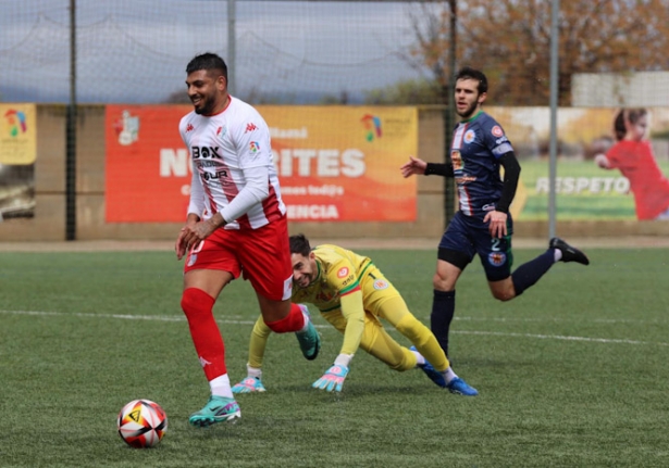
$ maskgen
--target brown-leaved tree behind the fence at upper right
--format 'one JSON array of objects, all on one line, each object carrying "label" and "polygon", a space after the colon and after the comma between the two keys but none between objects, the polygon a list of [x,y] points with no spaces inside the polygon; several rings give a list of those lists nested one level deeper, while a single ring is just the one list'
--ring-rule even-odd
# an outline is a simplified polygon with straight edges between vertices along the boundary
[{"label": "brown-leaved tree behind the fence at upper right", "polygon": [[[453,1],[421,4],[411,14],[417,39],[411,56],[442,85]],[[458,64],[486,72],[495,103],[546,105],[550,1],[467,0],[458,8]],[[575,73],[669,69],[669,0],[562,1],[558,25],[561,105],[569,104]]]}]

